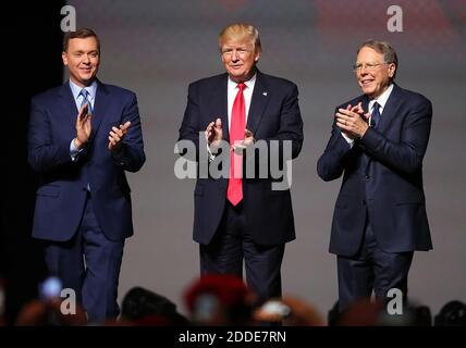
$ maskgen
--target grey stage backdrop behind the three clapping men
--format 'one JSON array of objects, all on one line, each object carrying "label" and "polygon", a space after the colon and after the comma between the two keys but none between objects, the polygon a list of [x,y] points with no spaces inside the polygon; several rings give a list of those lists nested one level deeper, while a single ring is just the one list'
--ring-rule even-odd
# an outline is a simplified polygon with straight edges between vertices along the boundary
[{"label": "grey stage backdrop behind the three clapping men", "polygon": [[[433,124],[425,158],[425,188],[434,250],[415,254],[410,296],[437,313],[466,301],[466,27],[465,1],[69,1],[77,27],[101,39],[99,77],[134,90],[144,125],[147,163],[130,175],[135,236],[127,240],[120,299],[139,285],[185,311],[182,295],[198,275],[192,241],[194,181],[173,174],[173,153],[187,85],[223,72],[217,35],[232,22],[260,30],[259,69],[295,82],[305,124],[303,152],[293,165],[297,240],[286,246],[284,294],[322,312],[336,299],[335,258],[328,253],[341,181],[323,183],[316,163],[330,135],[335,105],[359,95],[352,64],[356,47],[385,39],[398,52],[396,82],[427,96]],[[389,30],[390,5],[403,12],[402,32]],[[400,29],[400,22],[392,23]],[[59,25],[59,23],[57,23]],[[66,76],[64,76],[66,78]],[[216,115],[212,115],[212,119]]]}]

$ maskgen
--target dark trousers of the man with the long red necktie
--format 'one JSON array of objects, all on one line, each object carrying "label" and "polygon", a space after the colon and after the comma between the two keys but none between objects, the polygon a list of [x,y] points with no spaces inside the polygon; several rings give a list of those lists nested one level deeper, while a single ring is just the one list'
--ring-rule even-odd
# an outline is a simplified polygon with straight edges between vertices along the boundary
[{"label": "dark trousers of the man with the long red necktie", "polygon": [[200,274],[234,274],[243,276],[243,259],[247,286],[266,300],[281,297],[280,268],[284,244],[263,246],[254,243],[247,232],[243,204],[226,207],[212,241],[200,245]]}]

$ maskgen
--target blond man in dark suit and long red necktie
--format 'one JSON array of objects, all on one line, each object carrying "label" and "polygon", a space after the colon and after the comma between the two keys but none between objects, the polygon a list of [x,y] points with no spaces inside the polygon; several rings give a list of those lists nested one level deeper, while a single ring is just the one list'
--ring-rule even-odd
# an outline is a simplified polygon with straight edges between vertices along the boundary
[{"label": "blond man in dark suit and long red necktie", "polygon": [[[290,187],[274,190],[270,175],[242,176],[235,171],[247,171],[241,149],[259,141],[277,145],[279,153],[269,148],[270,161],[278,160],[286,146],[289,160],[298,156],[303,144],[298,91],[295,84],[257,70],[261,46],[252,25],[226,26],[219,47],[226,74],[189,85],[180,128],[180,140],[196,146],[200,164],[203,152],[209,152],[214,163],[220,144],[231,146],[228,177],[198,178],[195,187],[194,240],[200,245],[200,272],[242,276],[244,259],[248,286],[262,299],[279,297],[284,244],[295,238]],[[201,140],[208,151],[199,148]]]}]

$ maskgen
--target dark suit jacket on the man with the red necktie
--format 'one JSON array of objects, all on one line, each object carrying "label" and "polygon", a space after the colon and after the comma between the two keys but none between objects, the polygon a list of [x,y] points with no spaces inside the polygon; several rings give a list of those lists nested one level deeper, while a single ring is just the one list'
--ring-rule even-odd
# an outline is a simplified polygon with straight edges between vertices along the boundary
[{"label": "dark suit jacket on the man with the red necktie", "polygon": [[[221,117],[223,139],[228,129],[228,74],[200,79],[189,85],[188,101],[180,128],[180,139],[196,147],[199,132]],[[257,72],[246,127],[256,140],[292,141],[292,157],[303,145],[303,120],[295,84]],[[226,126],[225,126],[226,125]],[[244,176],[243,176],[244,177]],[[226,202],[228,178],[198,178],[194,191],[194,240],[207,245],[217,232]],[[243,178],[243,207],[253,240],[278,245],[295,238],[290,189],[272,190],[272,179]]]}]

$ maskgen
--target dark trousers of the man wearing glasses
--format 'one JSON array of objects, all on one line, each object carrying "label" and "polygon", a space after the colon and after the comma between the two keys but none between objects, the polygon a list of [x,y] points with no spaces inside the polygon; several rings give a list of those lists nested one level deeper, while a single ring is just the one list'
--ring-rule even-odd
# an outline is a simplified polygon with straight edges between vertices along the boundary
[{"label": "dark trousers of the man wearing glasses", "polygon": [[390,300],[387,293],[391,288],[407,296],[407,277],[413,260],[413,251],[387,252],[382,250],[373,235],[370,222],[366,222],[365,235],[357,254],[338,257],[339,309],[345,310],[357,300],[370,298]]}]

